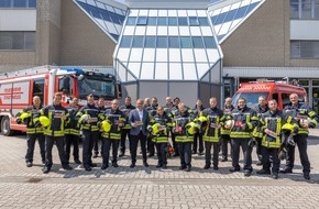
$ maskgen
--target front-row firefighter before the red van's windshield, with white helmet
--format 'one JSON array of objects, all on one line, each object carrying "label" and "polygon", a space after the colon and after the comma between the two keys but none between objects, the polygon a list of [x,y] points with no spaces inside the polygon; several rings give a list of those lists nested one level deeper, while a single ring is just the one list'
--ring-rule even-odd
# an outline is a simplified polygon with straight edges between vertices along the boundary
[{"label": "front-row firefighter before the red van's windshield, with white helmet", "polygon": [[239,156],[240,147],[243,150],[244,155],[244,176],[251,176],[252,167],[252,148],[253,139],[251,132],[256,127],[257,117],[256,112],[246,107],[245,98],[239,98],[238,107],[231,111],[229,119],[233,120],[233,128],[230,132],[232,143],[232,168],[231,173],[239,172]]}]

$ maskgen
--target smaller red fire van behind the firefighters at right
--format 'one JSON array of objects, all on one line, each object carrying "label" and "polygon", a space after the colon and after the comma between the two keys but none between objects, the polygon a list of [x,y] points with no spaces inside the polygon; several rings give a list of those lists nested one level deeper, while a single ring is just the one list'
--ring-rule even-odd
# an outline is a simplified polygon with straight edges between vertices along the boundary
[{"label": "smaller red fire van behind the firefighters at right", "polygon": [[275,81],[267,79],[257,79],[256,81],[242,82],[240,88],[232,97],[232,105],[237,107],[239,98],[245,98],[246,105],[251,108],[258,106],[258,97],[264,97],[266,103],[275,99],[278,102],[278,109],[283,110],[290,102],[289,95],[297,94],[300,102],[307,102],[307,92],[305,88],[298,86],[294,80]]}]

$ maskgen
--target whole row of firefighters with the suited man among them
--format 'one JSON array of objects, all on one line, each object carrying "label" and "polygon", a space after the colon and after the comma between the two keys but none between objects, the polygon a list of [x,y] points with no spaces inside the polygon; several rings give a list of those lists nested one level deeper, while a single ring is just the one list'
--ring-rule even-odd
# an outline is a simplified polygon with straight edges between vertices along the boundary
[{"label": "whole row of firefighters with the suited man among them", "polygon": [[[73,98],[70,106],[62,107],[62,95],[55,94],[53,105],[42,107],[37,96],[33,106],[16,114],[16,123],[26,124],[28,150],[26,166],[33,165],[35,141],[38,141],[43,173],[47,174],[53,165],[52,148],[55,143],[64,169],[69,166],[70,145],[76,164],[82,164],[87,172],[97,164],[92,157],[99,154],[101,141],[101,169],[109,167],[112,150],[113,167],[118,167],[118,157],[125,155],[125,141],[129,139],[131,165],[135,167],[138,145],[140,142],[143,165],[148,167],[147,156],[154,156],[155,147],[158,163],[156,167],[167,168],[167,156],[180,157],[179,169],[191,170],[191,155],[205,155],[204,169],[219,169],[221,162],[228,161],[228,144],[232,158],[231,173],[240,172],[240,148],[243,152],[244,176],[251,176],[252,151],[256,154],[262,169],[256,174],[272,175],[293,173],[295,146],[298,146],[305,179],[310,179],[310,163],[307,155],[308,129],[316,128],[318,117],[307,105],[299,103],[298,96],[289,96],[290,103],[283,111],[278,110],[277,101],[272,99],[266,105],[263,97],[258,98],[256,108],[249,108],[246,100],[240,98],[237,107],[231,98],[227,98],[223,109],[218,108],[217,98],[209,99],[209,108],[204,108],[197,100],[195,109],[180,102],[179,98],[166,98],[165,106],[158,106],[155,97],[138,99],[136,106],[131,98],[120,106],[118,99],[111,107],[105,107],[103,98],[96,106],[94,95],[87,96],[87,105],[78,106]],[[170,140],[172,139],[172,146]],[[79,160],[79,141],[82,140],[82,162]],[[120,154],[118,155],[120,146]],[[212,151],[211,151],[212,150]],[[148,155],[147,155],[148,152]],[[286,167],[279,170],[280,160],[286,160]],[[273,164],[273,166],[271,166]]]}]

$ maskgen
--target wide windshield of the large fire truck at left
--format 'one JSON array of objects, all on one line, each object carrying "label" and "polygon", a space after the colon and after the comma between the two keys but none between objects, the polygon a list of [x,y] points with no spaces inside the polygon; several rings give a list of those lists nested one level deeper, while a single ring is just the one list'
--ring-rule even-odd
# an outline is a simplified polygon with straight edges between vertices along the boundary
[{"label": "wide windshield of the large fire truck at left", "polygon": [[95,99],[103,97],[107,100],[112,100],[116,98],[113,80],[102,80],[87,76],[82,80],[78,80],[78,92],[80,99],[87,99],[89,94],[92,94]]}]

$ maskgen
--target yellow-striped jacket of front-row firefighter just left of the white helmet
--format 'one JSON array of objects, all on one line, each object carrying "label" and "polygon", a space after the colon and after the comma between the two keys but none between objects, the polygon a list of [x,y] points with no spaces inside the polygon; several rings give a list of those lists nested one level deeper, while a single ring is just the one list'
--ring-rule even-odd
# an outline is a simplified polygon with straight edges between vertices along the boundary
[{"label": "yellow-striped jacket of front-row firefighter just left of the white helmet", "polygon": [[205,142],[219,142],[220,127],[223,125],[223,111],[216,108],[207,108],[202,111],[202,116],[207,118],[205,133],[202,140]]}]

